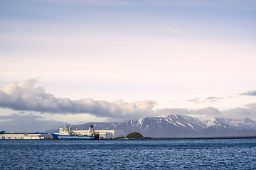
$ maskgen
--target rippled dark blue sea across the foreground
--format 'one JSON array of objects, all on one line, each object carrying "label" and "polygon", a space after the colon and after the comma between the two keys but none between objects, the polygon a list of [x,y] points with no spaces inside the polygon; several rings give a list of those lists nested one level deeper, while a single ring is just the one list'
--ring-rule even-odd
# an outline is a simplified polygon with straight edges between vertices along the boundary
[{"label": "rippled dark blue sea across the foreground", "polygon": [[256,169],[256,139],[0,140],[0,169]]}]

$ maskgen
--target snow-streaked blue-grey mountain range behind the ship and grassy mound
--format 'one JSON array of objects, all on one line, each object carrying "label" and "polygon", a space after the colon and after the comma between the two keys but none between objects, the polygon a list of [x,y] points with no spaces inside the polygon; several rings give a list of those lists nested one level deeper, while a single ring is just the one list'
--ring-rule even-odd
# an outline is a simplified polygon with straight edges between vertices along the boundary
[{"label": "snow-streaked blue-grey mountain range behind the ship and grassy mound", "polygon": [[[124,136],[134,131],[144,137],[256,136],[256,122],[248,118],[198,119],[185,115],[162,115],[115,123],[95,122],[93,125],[95,130],[123,130]],[[89,127],[90,123],[71,125],[72,130],[88,130]]]}]

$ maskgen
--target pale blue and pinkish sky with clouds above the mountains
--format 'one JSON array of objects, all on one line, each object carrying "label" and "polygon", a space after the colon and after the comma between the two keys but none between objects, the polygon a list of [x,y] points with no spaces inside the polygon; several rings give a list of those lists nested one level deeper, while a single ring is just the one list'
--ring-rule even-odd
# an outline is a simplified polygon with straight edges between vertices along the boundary
[{"label": "pale blue and pinkish sky with clouds above the mountains", "polygon": [[0,0],[0,129],[256,120],[254,0]]}]

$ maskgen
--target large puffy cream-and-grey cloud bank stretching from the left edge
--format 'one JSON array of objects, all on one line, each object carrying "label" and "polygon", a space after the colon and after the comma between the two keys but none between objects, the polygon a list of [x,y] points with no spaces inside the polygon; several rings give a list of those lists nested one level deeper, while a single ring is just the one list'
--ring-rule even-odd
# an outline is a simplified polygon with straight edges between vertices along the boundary
[{"label": "large puffy cream-and-grey cloud bank stretching from the left edge", "polygon": [[41,113],[90,113],[100,117],[136,118],[151,115],[155,101],[136,101],[124,103],[122,100],[108,102],[82,98],[56,98],[46,94],[42,87],[35,87],[35,79],[6,84],[0,88],[0,106],[16,111],[38,111]]}]

